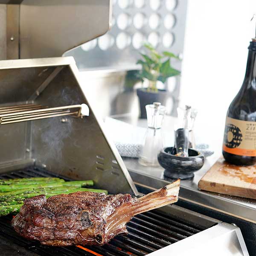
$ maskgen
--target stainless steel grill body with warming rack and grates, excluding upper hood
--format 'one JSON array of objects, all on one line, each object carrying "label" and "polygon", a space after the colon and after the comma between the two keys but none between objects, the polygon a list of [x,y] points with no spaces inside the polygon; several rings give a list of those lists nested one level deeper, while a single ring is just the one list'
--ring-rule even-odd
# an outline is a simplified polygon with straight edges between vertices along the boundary
[{"label": "stainless steel grill body with warming rack and grates, excluding upper hood", "polygon": [[[0,178],[93,180],[97,189],[110,194],[140,195],[81,90],[73,58],[1,61],[0,77]],[[157,182],[148,185],[158,189]],[[138,188],[143,192],[145,187]],[[0,236],[10,248],[25,250],[21,255],[165,256],[182,251],[198,256],[214,245],[212,239],[225,241],[223,247],[212,247],[216,253],[247,255],[238,227],[176,205],[136,215],[127,224],[128,236],[117,236],[102,247],[42,246],[18,236],[10,221],[11,216],[0,218]]]}]

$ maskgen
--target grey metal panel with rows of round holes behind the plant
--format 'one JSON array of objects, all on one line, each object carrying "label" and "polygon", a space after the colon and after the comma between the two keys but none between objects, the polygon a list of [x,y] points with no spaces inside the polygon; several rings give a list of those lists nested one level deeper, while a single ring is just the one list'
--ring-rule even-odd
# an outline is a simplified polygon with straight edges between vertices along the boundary
[{"label": "grey metal panel with rows of round holes behind the plant", "polygon": [[[182,56],[186,6],[186,0],[113,0],[111,30],[65,55],[74,56],[80,70],[134,69],[145,41],[160,52],[170,50]],[[172,65],[181,69],[180,61],[172,60]],[[168,102],[168,109],[172,110],[169,113],[175,112],[180,78],[170,78],[165,87],[173,96]]]}]

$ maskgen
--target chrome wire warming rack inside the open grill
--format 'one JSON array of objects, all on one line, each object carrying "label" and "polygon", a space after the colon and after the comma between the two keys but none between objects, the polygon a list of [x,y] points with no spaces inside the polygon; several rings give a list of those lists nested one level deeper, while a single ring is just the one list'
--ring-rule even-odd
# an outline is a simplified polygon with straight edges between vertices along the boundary
[{"label": "chrome wire warming rack inside the open grill", "polygon": [[24,104],[0,108],[0,125],[26,122],[56,116],[83,118],[82,105],[48,108],[37,104]]}]

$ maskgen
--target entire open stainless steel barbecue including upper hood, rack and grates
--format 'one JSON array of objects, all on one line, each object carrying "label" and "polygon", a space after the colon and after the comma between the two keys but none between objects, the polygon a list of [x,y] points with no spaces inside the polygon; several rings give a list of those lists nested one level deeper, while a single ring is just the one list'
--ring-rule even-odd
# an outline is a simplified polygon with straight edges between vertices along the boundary
[{"label": "entire open stainless steel barbecue including upper hood, rack and grates", "polygon": [[[111,26],[112,1],[29,0],[19,5],[22,2],[0,0],[12,3],[1,6],[6,29],[0,58],[28,58],[0,61],[0,178],[94,180],[97,189],[134,197],[140,195],[137,187],[144,194],[160,188],[157,179],[148,186],[134,185],[83,93],[82,85],[90,84],[79,81],[74,59],[35,58],[61,56],[105,34]],[[209,249],[214,255],[248,255],[238,227],[177,205],[136,215],[127,224],[127,236],[116,236],[102,247],[42,246],[18,236],[11,219],[0,218],[1,255],[200,256]]]}]

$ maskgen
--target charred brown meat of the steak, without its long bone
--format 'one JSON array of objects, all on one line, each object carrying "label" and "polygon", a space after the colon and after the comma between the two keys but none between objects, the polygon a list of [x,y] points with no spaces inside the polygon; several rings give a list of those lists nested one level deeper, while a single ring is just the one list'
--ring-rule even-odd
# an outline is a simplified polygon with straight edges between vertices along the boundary
[{"label": "charred brown meat of the steak, without its long bone", "polygon": [[[46,199],[38,195],[24,201],[12,227],[26,239],[55,246],[102,245],[120,233],[127,233],[125,222],[112,225],[109,219],[117,209],[135,204],[129,194],[105,195],[95,192],[75,192]],[[122,211],[120,211],[122,212]],[[109,220],[108,220],[109,219]]]}]

